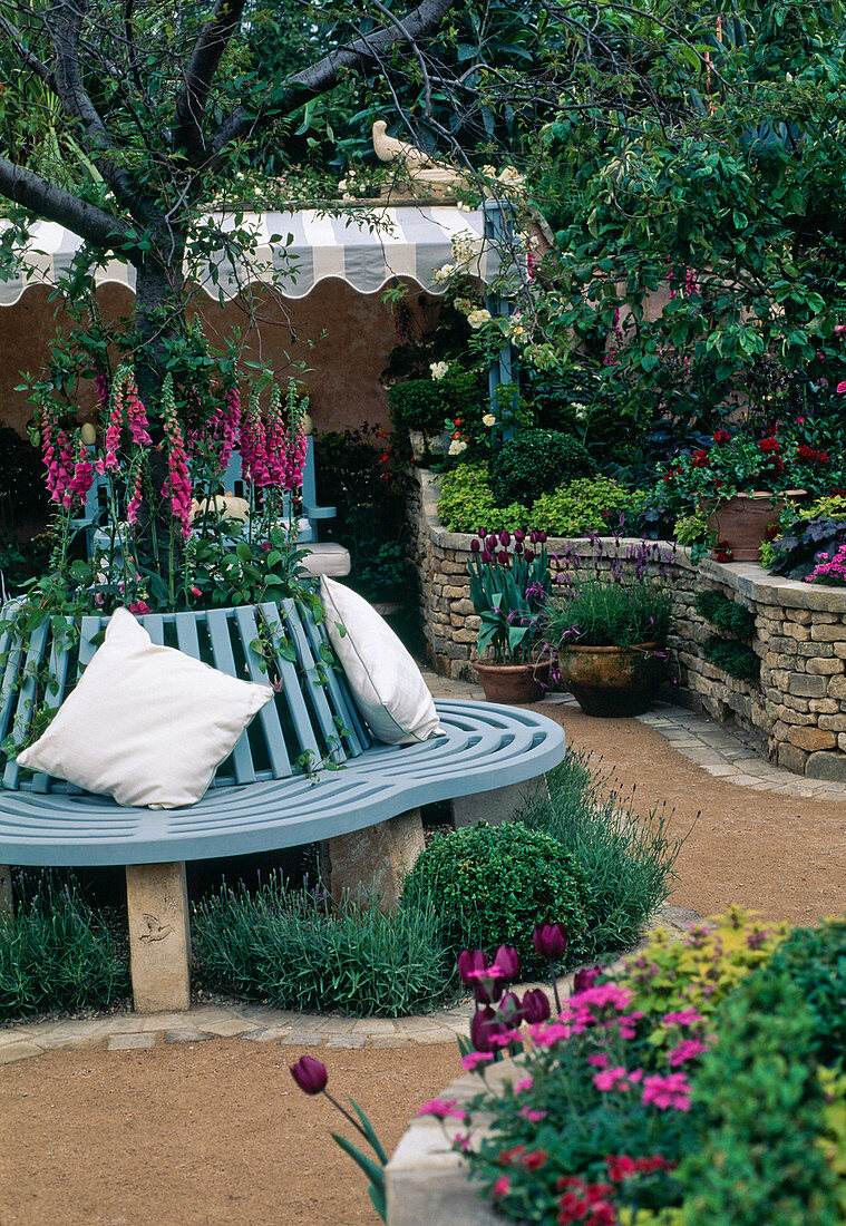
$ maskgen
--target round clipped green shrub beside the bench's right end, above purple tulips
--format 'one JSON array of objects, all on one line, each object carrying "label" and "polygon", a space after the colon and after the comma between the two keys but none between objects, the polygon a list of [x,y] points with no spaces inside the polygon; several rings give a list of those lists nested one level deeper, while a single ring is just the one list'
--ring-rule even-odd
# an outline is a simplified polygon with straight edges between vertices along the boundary
[{"label": "round clipped green shrub beside the bench's right end, above purple tulips", "polygon": [[[538,965],[536,923],[563,923],[574,954],[585,944],[585,873],[558,839],[522,821],[438,835],[406,878],[403,905],[436,907],[452,950],[515,945]],[[576,959],[577,960],[577,959]]]}]

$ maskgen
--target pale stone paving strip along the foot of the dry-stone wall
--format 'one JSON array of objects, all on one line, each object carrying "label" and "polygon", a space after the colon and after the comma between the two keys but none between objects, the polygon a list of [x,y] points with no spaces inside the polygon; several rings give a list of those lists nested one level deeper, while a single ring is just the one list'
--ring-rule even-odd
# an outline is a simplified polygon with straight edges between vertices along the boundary
[{"label": "pale stone paving strip along the foot of the dry-stone wall", "polygon": [[[424,672],[427,684],[435,698],[483,698],[482,689],[468,682],[438,677]],[[547,694],[544,704],[577,706],[571,694]],[[817,801],[846,801],[846,783],[810,779],[776,766],[761,758],[753,737],[741,728],[727,727],[671,702],[656,702],[654,710],[635,717],[640,723],[655,728],[683,758],[689,759],[709,775],[726,779],[738,787],[750,787],[756,792],[779,792]]]}]

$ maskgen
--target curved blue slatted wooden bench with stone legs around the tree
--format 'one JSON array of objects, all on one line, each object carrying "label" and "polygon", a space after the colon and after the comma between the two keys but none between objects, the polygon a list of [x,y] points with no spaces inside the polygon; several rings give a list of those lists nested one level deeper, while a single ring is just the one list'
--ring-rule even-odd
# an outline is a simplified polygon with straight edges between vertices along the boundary
[{"label": "curved blue slatted wooden bench with stone legs around the tree", "polygon": [[[460,700],[436,704],[440,736],[406,747],[375,743],[343,674],[326,663],[324,626],[293,601],[140,620],[154,642],[233,676],[276,678],[280,693],[189,808],[121,808],[45,775],[27,777],[10,754],[0,862],[128,866],[132,982],[136,1008],[146,1011],[190,1002],[185,861],[321,842],[335,894],[360,885],[390,901],[422,847],[421,804],[486,792],[493,802],[564,756],[564,734],[552,720]],[[0,739],[11,734],[22,744],[38,704],[63,701],[104,624],[83,618],[77,653],[53,641],[50,622],[27,650],[13,636],[0,640]],[[254,650],[260,641],[267,669]],[[54,691],[39,679],[45,663]]]}]

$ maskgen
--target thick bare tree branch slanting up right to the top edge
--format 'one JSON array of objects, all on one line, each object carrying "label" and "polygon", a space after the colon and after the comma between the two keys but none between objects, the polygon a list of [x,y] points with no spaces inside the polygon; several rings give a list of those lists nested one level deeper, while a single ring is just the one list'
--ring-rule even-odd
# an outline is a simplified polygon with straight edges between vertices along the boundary
[{"label": "thick bare tree branch slanting up right to the top edge", "polygon": [[391,18],[391,23],[374,29],[370,34],[340,47],[325,55],[316,64],[294,74],[288,81],[288,88],[275,94],[272,107],[259,107],[248,110],[244,105],[235,107],[223,120],[211,140],[211,151],[217,157],[232,141],[255,132],[265,123],[278,119],[280,115],[297,110],[310,98],[326,93],[335,85],[343,69],[360,67],[379,60],[385,51],[397,43],[416,45],[417,39],[425,38],[441,23],[456,0],[423,0],[402,18]]}]

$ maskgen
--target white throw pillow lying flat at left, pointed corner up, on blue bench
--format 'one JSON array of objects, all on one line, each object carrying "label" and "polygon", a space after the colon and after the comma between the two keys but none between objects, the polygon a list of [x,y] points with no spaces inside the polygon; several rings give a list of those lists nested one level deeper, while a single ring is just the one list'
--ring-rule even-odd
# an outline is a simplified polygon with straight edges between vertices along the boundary
[{"label": "white throw pillow lying flat at left, pointed corner up, on blue bench", "polygon": [[129,609],[115,609],[76,689],[17,761],[118,804],[180,808],[200,799],[272,696],[270,685],[154,646]]}]

